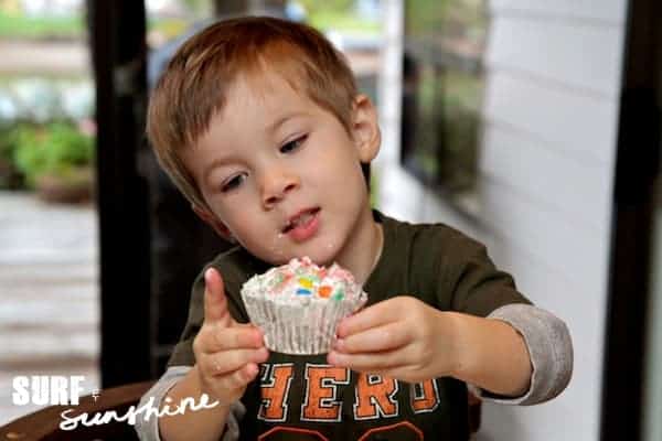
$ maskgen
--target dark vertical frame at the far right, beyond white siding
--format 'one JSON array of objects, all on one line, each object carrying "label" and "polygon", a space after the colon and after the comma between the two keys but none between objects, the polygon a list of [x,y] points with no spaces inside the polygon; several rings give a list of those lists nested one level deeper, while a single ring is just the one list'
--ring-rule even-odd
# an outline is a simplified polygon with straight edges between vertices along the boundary
[{"label": "dark vertical frame at the far right, beyond white siding", "polygon": [[652,211],[660,157],[660,0],[630,0],[611,218],[602,441],[642,438]]}]

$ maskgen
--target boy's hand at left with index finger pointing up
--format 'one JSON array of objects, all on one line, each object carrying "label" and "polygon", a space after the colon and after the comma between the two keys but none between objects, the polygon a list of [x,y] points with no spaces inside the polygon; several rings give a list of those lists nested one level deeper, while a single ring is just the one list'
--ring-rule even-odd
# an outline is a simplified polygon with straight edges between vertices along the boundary
[{"label": "boy's hand at left with index finger pointing up", "polygon": [[259,372],[257,364],[266,362],[269,352],[259,329],[229,315],[221,275],[210,268],[204,280],[204,322],[193,341],[193,353],[202,392],[227,406],[244,395]]}]

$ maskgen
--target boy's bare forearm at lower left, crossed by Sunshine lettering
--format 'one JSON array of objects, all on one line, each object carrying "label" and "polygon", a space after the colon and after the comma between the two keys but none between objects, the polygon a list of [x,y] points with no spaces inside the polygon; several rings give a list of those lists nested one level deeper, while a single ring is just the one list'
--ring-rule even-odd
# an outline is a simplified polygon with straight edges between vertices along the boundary
[{"label": "boy's bare forearm at lower left, crossed by Sunshine lettering", "polygon": [[[202,390],[197,366],[193,366],[181,381],[170,389],[167,395],[172,399],[170,407],[179,405],[184,398],[193,397],[200,402]],[[166,405],[161,402],[161,408]],[[211,398],[210,402],[214,402]],[[186,409],[183,415],[162,416],[159,419],[159,431],[163,441],[179,440],[218,440],[225,429],[225,421],[229,413],[228,406],[217,405],[212,409],[191,410]]]}]

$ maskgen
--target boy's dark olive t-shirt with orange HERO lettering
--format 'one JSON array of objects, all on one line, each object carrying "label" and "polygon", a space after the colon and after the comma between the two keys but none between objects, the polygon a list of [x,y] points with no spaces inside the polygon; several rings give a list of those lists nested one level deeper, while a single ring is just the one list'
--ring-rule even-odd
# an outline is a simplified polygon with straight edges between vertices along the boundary
[{"label": "boy's dark olive t-shirt with orange HERO lettering", "polygon": [[[383,225],[384,248],[363,287],[367,305],[405,294],[441,311],[487,316],[505,304],[530,303],[512,277],[494,267],[485,247],[462,233],[444,224],[398,222],[376,211],[374,216]],[[241,287],[269,265],[237,247],[210,266],[223,276],[233,318],[248,322]],[[204,318],[203,272],[168,366],[195,363],[192,343]],[[271,352],[242,402],[247,412],[241,437],[246,440],[468,439],[462,381],[445,377],[407,384],[333,367],[325,354]]]}]

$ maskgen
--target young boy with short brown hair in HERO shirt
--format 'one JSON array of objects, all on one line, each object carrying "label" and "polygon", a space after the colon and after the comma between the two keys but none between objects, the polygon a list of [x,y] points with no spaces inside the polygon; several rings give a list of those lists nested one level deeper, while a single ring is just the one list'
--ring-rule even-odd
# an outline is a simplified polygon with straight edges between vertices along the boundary
[{"label": "young boy with short brown hair in HERO shirt", "polygon": [[[317,31],[267,18],[207,28],[158,84],[148,135],[195,213],[238,246],[195,281],[181,342],[142,401],[218,405],[141,421],[142,439],[467,440],[467,384],[521,405],[566,387],[565,324],[482,245],[371,209],[362,165],[380,149],[376,112]],[[329,354],[270,353],[239,289],[302,256],[346,268],[370,300]]]}]

